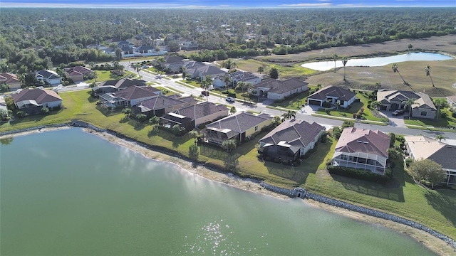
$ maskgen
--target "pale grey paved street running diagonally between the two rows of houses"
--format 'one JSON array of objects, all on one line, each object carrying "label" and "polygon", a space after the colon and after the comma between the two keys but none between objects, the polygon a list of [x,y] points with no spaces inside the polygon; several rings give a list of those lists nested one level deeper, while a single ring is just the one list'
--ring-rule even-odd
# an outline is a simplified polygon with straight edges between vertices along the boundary
[{"label": "pale grey paved street running diagonally between the two rows of houses", "polygon": [[[130,68],[129,63],[123,62],[121,63],[125,65],[125,68],[127,70],[132,71],[135,73],[135,70],[133,68]],[[201,88],[189,88],[184,85],[180,85],[177,82],[175,82],[177,79],[173,80],[168,80],[165,78],[157,78],[157,75],[153,75],[150,73],[147,73],[145,71],[140,71],[140,75],[142,75],[142,79],[149,82],[159,82],[160,84],[164,85],[165,87],[170,87],[172,90],[173,88],[175,90],[179,90],[181,92],[184,92],[185,95],[200,95],[202,89]],[[224,98],[217,97],[214,95],[210,95],[209,99],[210,102],[214,103],[219,103],[219,104],[227,104],[227,102],[224,100]],[[243,111],[243,110],[253,110],[255,112],[261,112],[261,113],[266,113],[270,114],[272,116],[280,116],[281,114],[284,113],[284,111],[281,110],[273,110],[269,109],[266,107],[266,105],[263,105],[261,103],[257,105],[250,105],[248,103],[244,102],[234,102],[234,103],[229,103],[229,105],[232,105],[236,107],[238,111]],[[296,118],[297,119],[304,119],[307,122],[317,122],[318,124],[325,125],[325,126],[341,126],[343,124],[343,121],[341,120],[336,120],[336,119],[328,119],[328,118],[323,118],[323,117],[314,117],[311,116],[310,114],[307,114],[302,111],[296,112]],[[375,124],[361,124],[361,123],[356,123],[355,127],[357,128],[363,128],[363,129],[378,129],[381,132],[393,132],[395,134],[405,134],[405,135],[418,135],[418,134],[423,134],[427,137],[435,137],[437,134],[442,134],[445,136],[447,139],[456,139],[456,133],[454,132],[436,132],[436,131],[430,131],[430,130],[422,130],[422,129],[408,129],[407,127],[393,127],[393,126],[382,126],[382,125],[375,125]]]}]

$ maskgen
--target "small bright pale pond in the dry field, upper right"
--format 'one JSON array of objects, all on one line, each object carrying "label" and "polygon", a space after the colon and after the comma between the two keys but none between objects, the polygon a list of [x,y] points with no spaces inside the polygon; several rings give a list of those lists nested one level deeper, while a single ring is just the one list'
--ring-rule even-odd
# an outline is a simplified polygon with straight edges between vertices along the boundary
[{"label": "small bright pale pond in the dry field, upper right", "polygon": [[[414,60],[451,60],[452,57],[439,53],[406,53],[388,57],[375,57],[375,58],[361,58],[361,59],[348,59],[346,67],[380,67],[392,63],[401,63],[404,61]],[[301,67],[310,68],[318,71],[326,71],[334,68],[334,61],[319,61],[314,63],[305,63]],[[343,67],[342,60],[336,60],[336,67]]]}]

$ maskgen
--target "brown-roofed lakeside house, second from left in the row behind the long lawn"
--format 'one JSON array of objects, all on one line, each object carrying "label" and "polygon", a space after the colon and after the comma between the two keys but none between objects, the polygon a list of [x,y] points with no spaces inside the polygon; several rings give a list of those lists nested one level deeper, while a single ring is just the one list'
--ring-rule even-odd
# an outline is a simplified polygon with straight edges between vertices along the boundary
[{"label": "brown-roofed lakeside house, second from left in the row behind the long lawn", "polygon": [[181,100],[176,97],[168,97],[165,95],[159,95],[152,97],[149,100],[139,102],[137,105],[132,107],[134,114],[145,114],[147,117],[157,116],[161,117],[163,114],[175,111],[181,107],[187,107],[195,105],[197,100],[193,97],[187,97],[188,100]]}]

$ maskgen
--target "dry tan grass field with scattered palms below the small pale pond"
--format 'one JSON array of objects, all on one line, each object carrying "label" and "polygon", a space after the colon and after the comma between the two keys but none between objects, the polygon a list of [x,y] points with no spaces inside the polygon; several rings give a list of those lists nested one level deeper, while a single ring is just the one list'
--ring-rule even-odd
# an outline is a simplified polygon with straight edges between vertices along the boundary
[{"label": "dry tan grass field with scattered palms below the small pale pond", "polygon": [[[350,61],[350,60],[348,60]],[[394,73],[391,65],[383,67],[346,67],[346,81],[343,80],[343,68],[339,68],[336,73],[328,71],[323,74],[310,76],[306,82],[311,85],[318,83],[326,85],[339,85],[349,88],[359,89],[368,85],[373,89],[375,83],[380,82],[380,89],[390,90],[410,90],[415,92],[425,92],[430,97],[446,97],[456,95],[456,60],[440,61],[408,61],[398,63],[400,75]],[[426,76],[425,66],[432,67],[431,75],[435,87],[432,87],[430,78]]]}]

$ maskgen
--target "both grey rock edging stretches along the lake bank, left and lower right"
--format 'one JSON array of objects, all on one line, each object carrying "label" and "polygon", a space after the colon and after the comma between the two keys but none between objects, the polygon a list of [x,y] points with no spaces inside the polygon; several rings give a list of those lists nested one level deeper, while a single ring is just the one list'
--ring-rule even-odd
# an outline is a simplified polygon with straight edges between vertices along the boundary
[{"label": "both grey rock edging stretches along the lake bank, left and lower right", "polygon": [[[89,124],[89,123],[86,123],[86,122],[82,122],[82,121],[78,121],[78,120],[73,120],[72,122],[63,123],[63,124],[41,125],[41,126],[38,126],[38,127],[19,129],[19,130],[14,130],[14,131],[9,131],[9,132],[0,132],[0,136],[5,136],[5,135],[9,135],[9,134],[17,134],[17,133],[21,133],[21,132],[31,132],[31,131],[39,130],[39,129],[58,128],[58,127],[83,127],[83,128],[93,129],[95,132],[108,132],[110,134],[115,135],[116,137],[127,139],[130,142],[135,142],[135,141],[133,141],[133,139],[129,139],[129,138],[125,138],[123,136],[120,136],[120,134],[117,134],[116,132],[110,131],[108,129],[101,129],[101,128],[93,126],[92,124]],[[173,152],[170,152],[170,151],[160,150],[156,146],[150,146],[150,145],[143,144],[143,143],[140,143],[140,142],[135,142],[135,143],[140,145],[140,146],[145,147],[146,149],[160,151],[160,152],[165,153],[165,154],[173,154]],[[174,154],[174,155],[176,155],[176,154]],[[431,228],[427,228],[425,225],[421,225],[419,223],[415,223],[412,220],[408,220],[408,219],[401,218],[401,217],[398,217],[398,216],[395,216],[395,215],[392,215],[392,214],[383,213],[383,212],[380,212],[378,210],[373,210],[373,209],[369,209],[369,208],[362,207],[362,206],[355,206],[355,205],[353,205],[351,203],[338,201],[338,200],[333,199],[333,198],[327,198],[326,196],[319,196],[317,194],[314,194],[314,193],[311,193],[309,191],[306,191],[304,188],[293,188],[293,189],[280,188],[278,186],[273,186],[273,185],[270,185],[268,183],[265,183],[264,181],[261,181],[260,185],[263,188],[266,188],[269,191],[273,191],[273,192],[279,193],[281,195],[289,196],[290,198],[296,198],[296,197],[309,198],[309,199],[312,199],[314,201],[318,201],[318,202],[321,202],[321,203],[326,203],[326,204],[328,204],[330,206],[336,206],[336,207],[347,209],[347,210],[353,210],[353,211],[355,211],[357,213],[363,213],[363,214],[370,215],[370,216],[373,216],[373,217],[376,217],[376,218],[382,218],[384,220],[394,221],[395,223],[408,225],[408,226],[410,226],[412,228],[416,228],[418,230],[423,230],[423,231],[429,233],[430,235],[433,235],[435,238],[439,238],[440,240],[445,241],[447,243],[447,245],[450,245],[453,249],[456,250],[456,242],[455,242],[455,240],[452,240],[451,238],[448,238],[446,235],[438,233],[437,231],[432,230]]]}]

